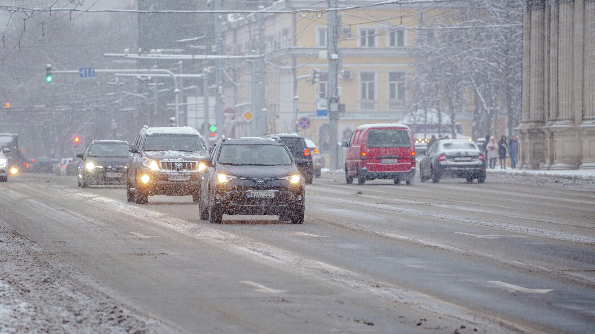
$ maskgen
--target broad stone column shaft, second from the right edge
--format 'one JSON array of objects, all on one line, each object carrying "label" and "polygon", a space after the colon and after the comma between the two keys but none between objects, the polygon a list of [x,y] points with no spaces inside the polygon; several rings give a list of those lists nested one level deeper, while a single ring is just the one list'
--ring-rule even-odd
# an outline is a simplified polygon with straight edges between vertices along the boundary
[{"label": "broad stone column shaft, second from the right edge", "polygon": [[574,0],[559,0],[559,52],[558,52],[558,120],[574,119],[572,112],[572,87],[574,68]]}]

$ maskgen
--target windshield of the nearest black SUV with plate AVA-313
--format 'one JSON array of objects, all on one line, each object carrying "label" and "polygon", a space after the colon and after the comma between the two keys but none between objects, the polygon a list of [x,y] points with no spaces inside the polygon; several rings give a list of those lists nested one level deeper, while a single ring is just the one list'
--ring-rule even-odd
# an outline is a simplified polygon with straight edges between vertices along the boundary
[{"label": "windshield of the nearest black SUV with plate AVA-313", "polygon": [[228,144],[221,147],[219,163],[234,166],[289,166],[285,147],[267,144]]}]

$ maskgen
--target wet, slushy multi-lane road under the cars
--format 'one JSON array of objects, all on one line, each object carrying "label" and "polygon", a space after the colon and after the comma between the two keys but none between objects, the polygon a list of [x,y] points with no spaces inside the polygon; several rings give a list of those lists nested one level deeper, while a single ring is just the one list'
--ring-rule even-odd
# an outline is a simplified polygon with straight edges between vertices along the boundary
[{"label": "wet, slushy multi-lane road under the cars", "polygon": [[0,229],[187,332],[592,331],[595,192],[504,181],[327,175],[303,225],[211,225],[190,197],[139,206],[123,188],[30,174],[2,184]]}]

